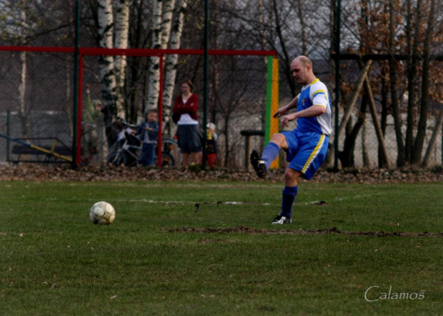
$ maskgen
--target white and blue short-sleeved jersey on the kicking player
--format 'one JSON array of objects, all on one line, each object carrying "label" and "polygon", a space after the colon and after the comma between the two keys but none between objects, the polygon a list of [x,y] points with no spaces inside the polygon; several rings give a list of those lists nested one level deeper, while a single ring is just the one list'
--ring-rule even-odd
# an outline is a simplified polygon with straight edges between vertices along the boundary
[{"label": "white and blue short-sleeved jersey on the kicking player", "polygon": [[332,103],[328,89],[324,83],[319,81],[319,79],[315,79],[312,83],[302,88],[298,97],[297,111],[305,110],[313,105],[323,106],[326,111],[321,116],[314,118],[298,118],[297,130],[303,132],[312,131],[328,136],[331,135]]}]

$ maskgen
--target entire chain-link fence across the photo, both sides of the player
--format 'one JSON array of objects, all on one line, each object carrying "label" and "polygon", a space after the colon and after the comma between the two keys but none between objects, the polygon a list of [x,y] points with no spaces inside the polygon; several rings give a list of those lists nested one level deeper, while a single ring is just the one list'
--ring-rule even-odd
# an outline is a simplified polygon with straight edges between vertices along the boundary
[{"label": "entire chain-link fence across the photo, both sides of the player", "polygon": [[[82,103],[84,111],[87,103],[96,104],[103,100],[102,85],[99,69],[99,56],[82,56],[83,81]],[[51,148],[56,146],[71,148],[72,146],[72,104],[73,104],[73,58],[71,53],[48,53],[1,51],[0,52],[0,133],[9,134],[11,138],[20,138],[36,146]],[[149,97],[149,66],[152,62],[150,56],[127,56],[127,66],[124,73],[124,84],[119,91],[117,101],[123,111],[119,113],[125,121],[137,124],[144,118],[146,101]],[[221,56],[211,55],[209,60],[209,104],[208,121],[215,123],[218,154],[216,165],[227,168],[247,168],[246,145],[249,142],[249,151],[252,148],[261,150],[264,146],[264,122],[267,98],[267,62],[265,56]],[[314,64],[317,65],[317,63]],[[341,97],[342,104],[348,105],[352,94],[352,87],[358,80],[359,68],[355,61],[344,62],[344,74],[349,85],[349,93]],[[194,81],[194,93],[199,96],[199,122],[202,126],[203,118],[203,56],[179,55],[176,66],[176,79],[174,81],[173,97],[180,93],[180,83],[185,79]],[[314,68],[315,70],[315,68]],[[329,73],[319,75],[329,88]],[[292,98],[287,91],[286,78],[280,78],[280,103],[286,104]],[[88,92],[89,91],[89,92]],[[330,90],[333,95],[333,91]],[[382,92],[375,91],[374,98],[377,105],[383,103]],[[387,101],[389,103],[389,101]],[[357,100],[352,112],[345,136],[339,140],[339,151],[344,151],[345,143],[354,137],[352,157],[347,157],[347,162],[352,160],[355,167],[377,167],[379,165],[379,145],[374,131],[372,117],[369,109],[362,111],[362,98]],[[427,123],[427,136],[424,140],[424,152],[434,126],[440,104],[429,107]],[[163,124],[165,136],[174,137],[176,126],[167,118],[169,117],[171,103],[164,103],[166,121]],[[406,108],[401,103],[403,133],[406,129]],[[8,113],[9,111],[9,121]],[[343,109],[340,109],[342,117]],[[383,108],[378,106],[379,121],[382,122]],[[394,123],[389,108],[384,124],[384,143],[387,148],[389,163],[395,166],[397,159],[397,141],[394,132]],[[94,128],[97,131],[98,143],[94,149],[93,159],[89,163],[106,163],[109,153],[109,143],[106,141],[106,131],[103,113],[96,118]],[[362,120],[362,117],[365,119]],[[340,118],[341,120],[341,118]],[[359,123],[360,126],[356,127]],[[295,122],[291,128],[295,126]],[[85,124],[84,124],[85,126]],[[87,126],[87,124],[86,124]],[[352,131],[358,131],[352,136]],[[242,131],[255,131],[257,133],[242,135]],[[415,131],[416,133],[417,131]],[[442,165],[442,131],[438,131],[437,141],[431,151],[429,165]],[[333,138],[333,136],[332,136]],[[45,155],[18,154],[17,143],[8,142],[0,138],[0,161],[7,160],[39,160],[47,158]],[[84,143],[83,143],[84,145]],[[83,158],[87,156],[83,148]],[[28,155],[28,156],[26,156]],[[65,160],[64,160],[65,161]],[[342,163],[342,159],[340,160]],[[88,160],[84,159],[84,162]]]}]

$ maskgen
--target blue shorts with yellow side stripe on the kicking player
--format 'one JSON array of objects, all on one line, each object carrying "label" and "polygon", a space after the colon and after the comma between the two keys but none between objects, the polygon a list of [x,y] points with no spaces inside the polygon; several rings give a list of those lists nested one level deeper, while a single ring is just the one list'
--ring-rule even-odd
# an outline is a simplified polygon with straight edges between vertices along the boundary
[{"label": "blue shorts with yellow side stripe on the kicking player", "polygon": [[287,160],[289,168],[302,173],[311,180],[322,165],[328,150],[329,136],[316,132],[282,132],[288,143]]}]

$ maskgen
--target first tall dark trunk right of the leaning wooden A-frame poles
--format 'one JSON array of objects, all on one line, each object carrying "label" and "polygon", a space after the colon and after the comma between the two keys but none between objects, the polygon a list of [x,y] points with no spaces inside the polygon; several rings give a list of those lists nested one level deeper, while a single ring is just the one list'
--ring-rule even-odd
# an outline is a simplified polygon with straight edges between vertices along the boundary
[{"label": "first tall dark trunk right of the leaning wooden A-frame poles", "polygon": [[402,120],[400,118],[399,103],[397,98],[397,62],[394,58],[394,5],[393,0],[389,0],[389,79],[391,81],[391,106],[392,116],[394,116],[395,136],[397,139],[397,167],[403,167],[405,164],[404,143],[402,136]]}]

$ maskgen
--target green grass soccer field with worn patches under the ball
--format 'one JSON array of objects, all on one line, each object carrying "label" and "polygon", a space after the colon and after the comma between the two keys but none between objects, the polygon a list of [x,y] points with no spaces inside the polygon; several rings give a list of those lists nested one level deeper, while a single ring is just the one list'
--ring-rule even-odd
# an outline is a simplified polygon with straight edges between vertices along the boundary
[{"label": "green grass soccer field with worn patches under the ball", "polygon": [[443,183],[0,186],[0,315],[443,314]]}]

